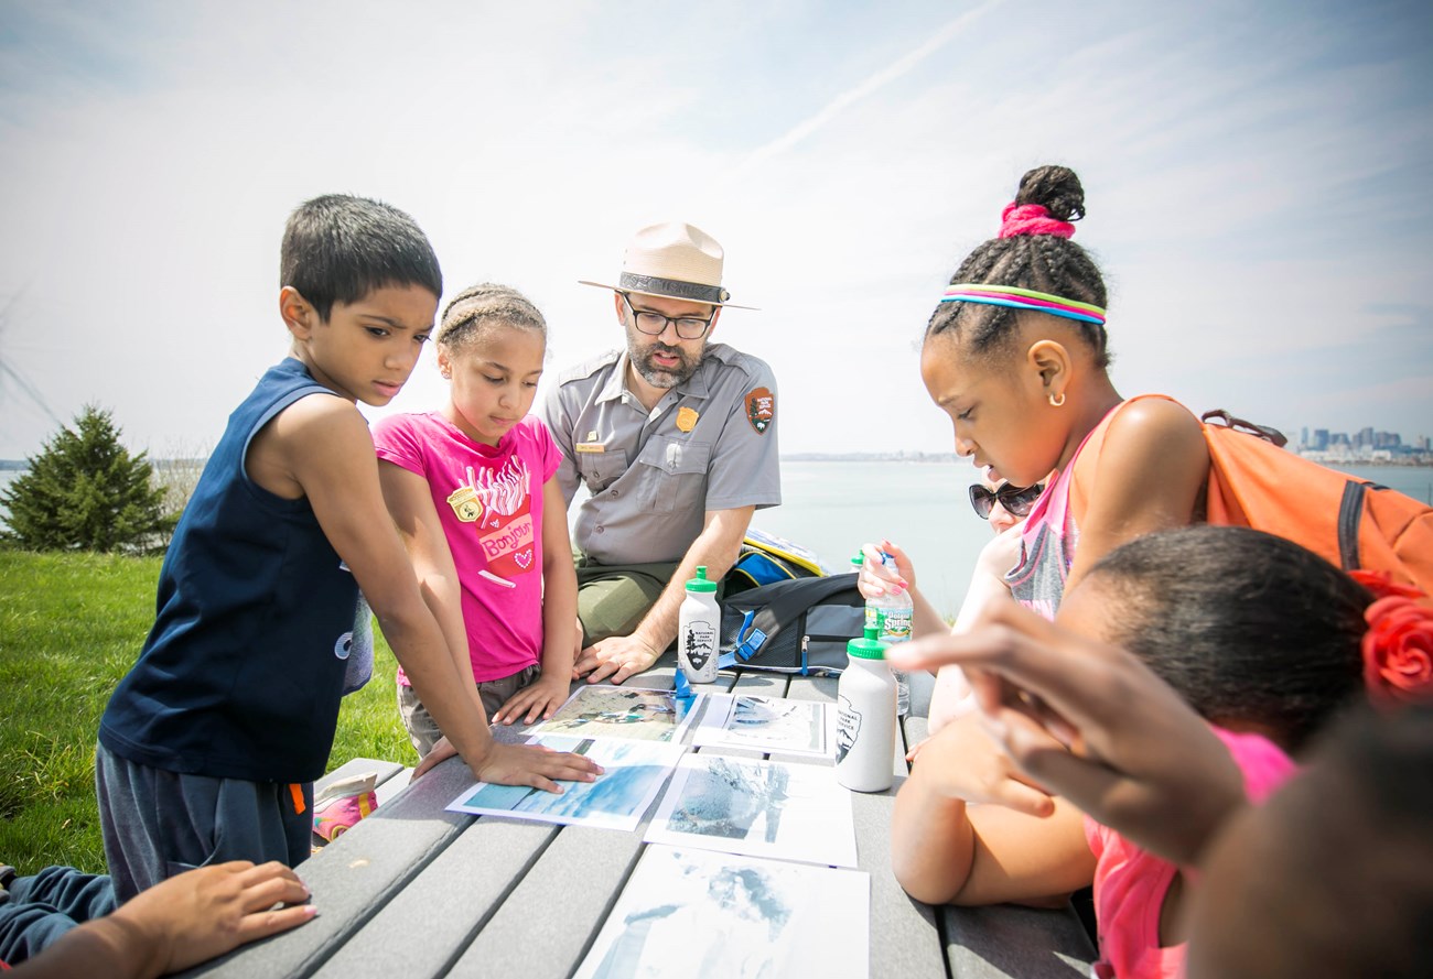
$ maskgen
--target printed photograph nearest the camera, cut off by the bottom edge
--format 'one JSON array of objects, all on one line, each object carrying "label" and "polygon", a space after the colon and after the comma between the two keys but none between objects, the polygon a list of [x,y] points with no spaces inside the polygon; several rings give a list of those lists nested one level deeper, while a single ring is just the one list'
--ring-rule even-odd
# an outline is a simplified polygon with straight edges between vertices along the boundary
[{"label": "printed photograph nearest the camera, cut off by the bottom edge", "polygon": [[576,979],[866,979],[870,893],[860,870],[649,846]]}]

